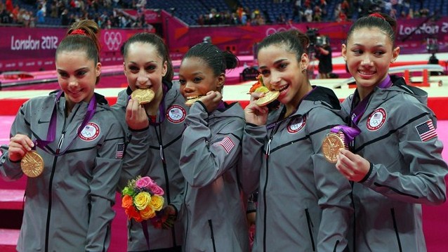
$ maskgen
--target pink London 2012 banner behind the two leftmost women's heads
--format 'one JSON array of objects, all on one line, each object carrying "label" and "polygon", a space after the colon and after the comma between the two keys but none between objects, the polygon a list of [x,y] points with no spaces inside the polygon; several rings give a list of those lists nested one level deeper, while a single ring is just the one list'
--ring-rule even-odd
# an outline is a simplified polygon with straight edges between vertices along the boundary
[{"label": "pink London 2012 banner behind the two leftmost women's heads", "polygon": [[[55,51],[66,28],[0,27],[0,72],[55,69]],[[100,34],[103,65],[123,63],[120,47],[138,29],[105,29]]]}]

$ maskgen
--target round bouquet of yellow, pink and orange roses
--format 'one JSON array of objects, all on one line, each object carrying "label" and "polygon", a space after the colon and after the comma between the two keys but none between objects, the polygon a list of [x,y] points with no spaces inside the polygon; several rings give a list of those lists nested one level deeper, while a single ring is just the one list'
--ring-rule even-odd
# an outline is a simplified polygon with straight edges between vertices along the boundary
[{"label": "round bouquet of yellow, pink and orange roses", "polygon": [[164,206],[164,190],[150,177],[138,176],[129,180],[128,185],[121,191],[121,206],[128,215],[137,222],[152,220],[152,224],[161,223],[159,211]]}]

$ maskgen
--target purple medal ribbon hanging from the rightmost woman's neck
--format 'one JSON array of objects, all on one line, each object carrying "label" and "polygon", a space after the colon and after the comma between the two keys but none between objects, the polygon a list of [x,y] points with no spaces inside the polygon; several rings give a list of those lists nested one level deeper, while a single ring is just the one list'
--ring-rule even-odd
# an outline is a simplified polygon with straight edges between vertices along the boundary
[{"label": "purple medal ribbon hanging from the rightmost woman's neck", "polygon": [[[377,86],[378,88],[389,88],[390,86],[392,86],[392,80],[390,79],[390,75],[389,74],[386,75],[386,78],[383,79],[383,81],[381,81]],[[366,112],[367,103],[369,102],[371,93],[369,93],[369,95],[367,95],[367,97],[365,97],[350,113],[350,118],[352,120],[352,123],[350,125],[353,127],[338,125],[331,128],[330,130],[331,133],[343,133],[343,140],[345,145],[348,145],[348,143],[352,142],[357,135],[360,135],[361,130],[357,126],[357,124],[360,121],[364,112]],[[357,91],[355,92],[355,95],[357,95]]]}]

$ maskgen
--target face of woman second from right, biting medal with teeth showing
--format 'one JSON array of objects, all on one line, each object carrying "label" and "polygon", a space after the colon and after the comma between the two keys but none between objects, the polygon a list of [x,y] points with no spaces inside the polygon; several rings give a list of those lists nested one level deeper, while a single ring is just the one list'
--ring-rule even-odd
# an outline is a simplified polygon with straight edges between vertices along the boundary
[{"label": "face of woman second from right, biting medal with teeth showing", "polygon": [[279,91],[277,100],[287,107],[296,108],[311,86],[303,69],[308,67],[308,55],[303,53],[300,62],[296,53],[284,46],[271,45],[258,51],[258,66],[263,82],[271,91]]}]

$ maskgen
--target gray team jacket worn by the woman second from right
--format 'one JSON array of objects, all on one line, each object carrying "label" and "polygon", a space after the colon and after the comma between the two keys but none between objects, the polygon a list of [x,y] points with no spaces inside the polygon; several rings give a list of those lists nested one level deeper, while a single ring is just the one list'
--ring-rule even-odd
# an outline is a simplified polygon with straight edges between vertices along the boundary
[{"label": "gray team jacket worn by the woman second from right", "polygon": [[245,192],[258,187],[253,251],[345,251],[348,246],[350,183],[322,154],[330,129],[343,124],[339,100],[315,87],[294,114],[267,126],[246,124],[242,152]]}]

